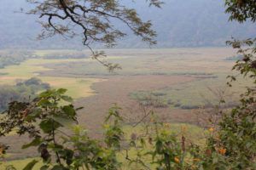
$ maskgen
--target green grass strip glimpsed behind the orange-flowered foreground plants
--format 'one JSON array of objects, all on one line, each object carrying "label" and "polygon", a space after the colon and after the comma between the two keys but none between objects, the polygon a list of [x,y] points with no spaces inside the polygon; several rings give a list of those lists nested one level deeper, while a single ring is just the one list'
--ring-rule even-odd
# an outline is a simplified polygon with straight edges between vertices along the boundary
[{"label": "green grass strip glimpsed behind the orange-flowered foreground plants", "polygon": [[[147,128],[147,130],[146,130]],[[165,122],[163,124],[158,125],[159,130],[165,130],[166,133],[169,134],[175,134],[177,136],[177,139],[182,139],[182,136],[185,137],[185,143],[190,144],[191,142],[193,144],[198,144],[202,147],[206,144],[206,136],[209,135],[208,130],[203,129],[201,127],[197,127],[195,125],[190,125],[187,123],[169,123]],[[140,124],[137,127],[131,127],[131,126],[125,126],[124,127],[125,135],[127,139],[131,139],[132,134],[136,136],[151,136],[153,137],[155,135],[155,127],[152,124]],[[147,132],[146,132],[147,131]],[[146,135],[148,133],[148,135]],[[146,150],[142,151],[140,149],[131,149],[128,151],[128,156],[131,160],[136,160],[137,154],[145,154],[148,150],[154,150],[151,144],[148,144],[148,138],[145,138],[145,147]],[[129,167],[129,161],[125,160],[126,152],[123,151],[119,153],[119,159],[121,162],[123,162],[123,170],[128,169],[144,169],[139,164],[132,164]],[[144,162],[150,162],[152,159],[151,156],[143,156]],[[154,168],[154,165],[148,164],[148,167]]]}]

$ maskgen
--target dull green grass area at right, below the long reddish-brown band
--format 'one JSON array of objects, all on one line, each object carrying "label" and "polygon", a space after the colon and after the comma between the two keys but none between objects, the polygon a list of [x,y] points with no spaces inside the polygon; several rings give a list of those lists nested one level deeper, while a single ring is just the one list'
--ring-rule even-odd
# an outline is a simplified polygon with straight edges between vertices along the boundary
[{"label": "dull green grass area at right, below the long reddish-brown band", "polygon": [[240,94],[246,89],[245,87],[253,85],[251,81],[246,81],[242,77],[238,80],[238,82],[233,82],[230,88],[226,84],[228,82],[226,75],[219,74],[217,78],[206,78],[152,91],[137,91],[131,93],[130,96],[131,99],[137,99],[140,102],[151,96],[163,105],[182,109],[218,105],[222,98],[227,105],[235,105]]}]

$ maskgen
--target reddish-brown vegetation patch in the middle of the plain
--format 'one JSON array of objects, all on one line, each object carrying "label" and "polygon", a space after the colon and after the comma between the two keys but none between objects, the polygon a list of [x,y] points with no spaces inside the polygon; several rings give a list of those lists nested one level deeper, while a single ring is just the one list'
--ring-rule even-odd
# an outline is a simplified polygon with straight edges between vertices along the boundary
[{"label": "reddish-brown vegetation patch in the middle of the plain", "polygon": [[[193,77],[159,75],[108,77],[108,81],[98,82],[92,86],[98,94],[79,99],[77,102],[77,105],[84,106],[84,110],[79,113],[79,122],[96,134],[95,130],[101,127],[104,116],[113,104],[119,105],[125,116],[132,114],[129,118],[138,118],[140,111],[137,102],[129,97],[131,92],[166,88],[193,80]],[[173,122],[193,121],[189,115],[190,111],[170,108],[158,108],[156,111],[160,117]]]}]

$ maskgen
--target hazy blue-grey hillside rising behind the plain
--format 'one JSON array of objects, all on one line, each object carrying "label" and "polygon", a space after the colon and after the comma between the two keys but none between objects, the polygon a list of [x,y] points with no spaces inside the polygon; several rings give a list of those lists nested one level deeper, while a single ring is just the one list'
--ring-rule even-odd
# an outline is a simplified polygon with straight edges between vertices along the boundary
[{"label": "hazy blue-grey hillside rising behind the plain", "polygon": [[[224,1],[216,0],[166,0],[162,9],[146,8],[143,0],[138,3],[123,0],[137,8],[145,20],[152,20],[158,32],[157,48],[223,46],[230,37],[256,37],[256,26],[228,22],[224,14]],[[29,8],[25,0],[1,0],[0,48],[83,48],[81,40],[54,37],[36,41],[40,31],[36,16],[14,13]],[[123,25],[117,23],[123,28]],[[130,32],[127,28],[125,31]],[[148,47],[133,35],[119,42],[119,48]]]}]

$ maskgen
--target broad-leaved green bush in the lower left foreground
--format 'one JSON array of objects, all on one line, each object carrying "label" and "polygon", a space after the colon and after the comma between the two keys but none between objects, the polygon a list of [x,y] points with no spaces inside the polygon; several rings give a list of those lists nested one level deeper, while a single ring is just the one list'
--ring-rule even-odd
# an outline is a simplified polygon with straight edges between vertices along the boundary
[{"label": "broad-leaved green bush in the lower left foreground", "polygon": [[[77,111],[73,105],[63,105],[73,100],[66,96],[66,89],[52,89],[38,95],[31,103],[12,102],[9,110],[3,113],[0,124],[0,136],[13,131],[23,135],[28,133],[32,140],[22,149],[38,147],[44,161],[41,169],[119,169],[117,151],[120,150],[122,119],[119,108],[114,106],[106,118],[105,144],[90,139],[86,131],[77,122]],[[113,124],[112,124],[113,120]],[[72,126],[73,130],[68,130]],[[6,147],[0,148],[1,156]],[[32,169],[38,163],[33,160],[25,170]]]}]

